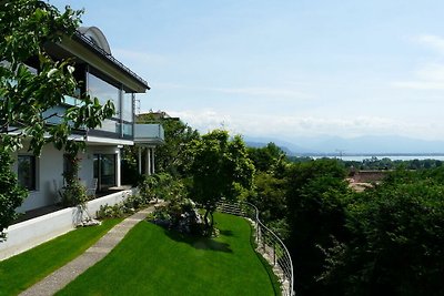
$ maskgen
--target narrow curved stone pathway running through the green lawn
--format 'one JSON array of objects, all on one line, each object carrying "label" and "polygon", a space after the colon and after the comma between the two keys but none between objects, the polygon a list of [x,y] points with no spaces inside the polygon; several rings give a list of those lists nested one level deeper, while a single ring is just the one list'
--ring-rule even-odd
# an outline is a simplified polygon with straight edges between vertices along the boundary
[{"label": "narrow curved stone pathway running through the green lawn", "polygon": [[56,294],[89,267],[107,256],[135,224],[144,220],[147,215],[153,211],[154,206],[150,206],[125,218],[102,236],[82,255],[60,267],[36,285],[22,292],[20,295],[47,296]]}]

